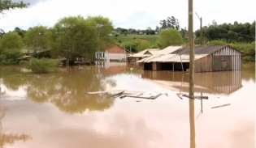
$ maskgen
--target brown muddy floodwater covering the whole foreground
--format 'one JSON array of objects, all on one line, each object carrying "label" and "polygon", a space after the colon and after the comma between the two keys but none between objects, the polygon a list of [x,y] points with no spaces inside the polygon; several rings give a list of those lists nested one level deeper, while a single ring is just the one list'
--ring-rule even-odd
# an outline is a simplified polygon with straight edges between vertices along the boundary
[{"label": "brown muddy floodwater covering the whole foreground", "polygon": [[[195,95],[209,99],[180,99],[177,94],[188,94],[188,82],[185,73],[123,65],[54,74],[1,66],[0,147],[255,147],[254,63],[241,71],[195,74]],[[164,95],[121,99],[86,93],[106,90]]]}]

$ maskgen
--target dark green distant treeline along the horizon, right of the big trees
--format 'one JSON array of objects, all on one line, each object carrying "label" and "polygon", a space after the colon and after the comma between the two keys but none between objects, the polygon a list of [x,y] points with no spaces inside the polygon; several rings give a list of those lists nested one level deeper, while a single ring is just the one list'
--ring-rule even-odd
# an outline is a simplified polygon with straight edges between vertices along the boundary
[{"label": "dark green distant treeline along the horizon, right of the big trees", "polygon": [[[169,17],[168,17],[169,18]],[[185,43],[188,43],[188,30],[186,27],[180,28],[178,20],[176,23],[169,24],[169,19],[160,21],[160,26],[156,26],[155,29],[147,27],[145,30],[136,30],[133,28],[115,28],[117,35],[154,35],[158,34],[162,29],[172,27],[180,31],[181,36]],[[171,17],[172,18],[172,17]],[[178,27],[177,27],[178,26]],[[200,44],[200,29],[194,32],[195,43]],[[230,43],[251,43],[255,41],[255,21],[253,23],[223,23],[217,24],[215,21],[208,26],[202,27],[202,43],[207,44],[212,40],[222,40],[228,44]]]}]

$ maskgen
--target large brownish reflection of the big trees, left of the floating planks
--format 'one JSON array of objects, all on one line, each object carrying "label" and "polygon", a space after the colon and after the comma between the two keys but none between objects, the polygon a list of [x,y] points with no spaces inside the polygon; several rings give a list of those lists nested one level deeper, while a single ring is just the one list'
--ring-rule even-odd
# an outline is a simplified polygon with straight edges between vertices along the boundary
[{"label": "large brownish reflection of the big trees, left of the floating planks", "polygon": [[99,77],[94,70],[75,70],[35,76],[28,81],[27,94],[35,102],[51,102],[64,112],[102,111],[111,108],[114,99],[86,92],[105,90],[106,85],[115,87],[115,81],[104,78],[104,75]]}]

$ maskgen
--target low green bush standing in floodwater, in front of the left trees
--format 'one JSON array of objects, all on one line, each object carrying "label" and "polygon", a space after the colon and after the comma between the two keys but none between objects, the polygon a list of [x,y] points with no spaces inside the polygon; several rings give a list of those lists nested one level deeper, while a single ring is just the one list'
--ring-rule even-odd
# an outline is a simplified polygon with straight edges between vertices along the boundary
[{"label": "low green bush standing in floodwater, in front of the left trees", "polygon": [[29,61],[22,61],[21,64],[25,66],[25,68],[32,70],[34,73],[50,73],[61,63],[56,59],[31,58]]}]

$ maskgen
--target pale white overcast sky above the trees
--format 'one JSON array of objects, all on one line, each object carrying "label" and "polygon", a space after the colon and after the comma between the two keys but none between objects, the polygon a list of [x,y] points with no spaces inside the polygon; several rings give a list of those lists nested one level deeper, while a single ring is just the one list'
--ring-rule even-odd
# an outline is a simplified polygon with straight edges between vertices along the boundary
[{"label": "pale white overcast sky above the trees", "polygon": [[[14,0],[13,2],[17,2]],[[174,16],[180,27],[188,28],[188,0],[24,0],[26,9],[4,11],[0,15],[0,28],[5,32],[20,27],[43,25],[53,27],[65,16],[102,15],[111,19],[114,27],[145,29],[159,26],[159,21]],[[202,17],[202,26],[215,20],[221,23],[253,23],[255,0],[193,0],[193,30],[200,27],[197,15]],[[195,14],[197,13],[197,15]]]}]

